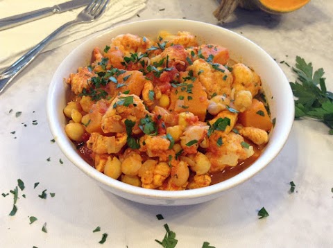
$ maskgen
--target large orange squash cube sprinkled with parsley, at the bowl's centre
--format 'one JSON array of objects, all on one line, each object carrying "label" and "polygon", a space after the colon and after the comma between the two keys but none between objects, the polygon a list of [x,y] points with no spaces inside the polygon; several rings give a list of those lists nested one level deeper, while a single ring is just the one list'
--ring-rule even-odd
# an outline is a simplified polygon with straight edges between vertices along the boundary
[{"label": "large orange squash cube sprinkled with parsley, at the bowl's centre", "polygon": [[200,121],[205,121],[207,107],[207,94],[199,80],[186,80],[171,89],[169,110],[177,113],[191,112]]}]

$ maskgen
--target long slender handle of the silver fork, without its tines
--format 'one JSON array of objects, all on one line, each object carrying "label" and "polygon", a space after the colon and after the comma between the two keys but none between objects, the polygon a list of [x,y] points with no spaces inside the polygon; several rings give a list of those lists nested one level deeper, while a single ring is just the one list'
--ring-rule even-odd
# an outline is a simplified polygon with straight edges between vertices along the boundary
[{"label": "long slender handle of the silver fork, without its tines", "polygon": [[38,43],[36,46],[31,48],[30,51],[25,53],[17,61],[15,61],[10,67],[0,74],[0,94],[4,89],[12,82],[12,80],[17,76],[17,74],[24,69],[28,64],[30,64],[36,57],[37,54],[42,51],[42,49],[51,42],[51,40],[62,33],[63,30],[73,26],[74,24],[80,23],[80,20],[69,21],[66,24],[57,28],[51,35],[47,36],[42,42]]}]

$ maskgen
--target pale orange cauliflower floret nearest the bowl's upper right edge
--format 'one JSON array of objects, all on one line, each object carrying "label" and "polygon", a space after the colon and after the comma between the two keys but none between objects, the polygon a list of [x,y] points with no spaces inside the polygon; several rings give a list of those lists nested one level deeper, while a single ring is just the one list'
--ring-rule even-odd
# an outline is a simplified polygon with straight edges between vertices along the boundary
[{"label": "pale orange cauliflower floret nearest the bowl's upper right edge", "polygon": [[254,71],[246,67],[245,64],[234,64],[232,66],[232,76],[234,81],[232,82],[232,88],[235,91],[246,90],[250,91],[252,96],[258,94],[261,89],[262,82]]}]

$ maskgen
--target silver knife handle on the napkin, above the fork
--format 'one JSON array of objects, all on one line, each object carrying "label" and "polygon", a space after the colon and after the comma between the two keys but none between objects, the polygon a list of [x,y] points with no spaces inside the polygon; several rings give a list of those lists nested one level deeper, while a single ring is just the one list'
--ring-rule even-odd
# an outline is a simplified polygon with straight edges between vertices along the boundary
[{"label": "silver knife handle on the napkin, above the fork", "polygon": [[27,23],[28,21],[35,21],[42,17],[53,15],[56,12],[59,12],[59,10],[56,8],[56,6],[53,6],[49,8],[42,8],[40,10],[33,10],[31,12],[15,15],[12,17],[6,17],[0,19],[0,30],[19,26],[21,24]]}]

